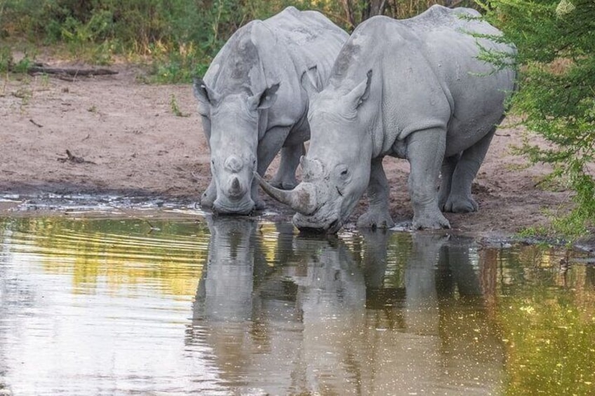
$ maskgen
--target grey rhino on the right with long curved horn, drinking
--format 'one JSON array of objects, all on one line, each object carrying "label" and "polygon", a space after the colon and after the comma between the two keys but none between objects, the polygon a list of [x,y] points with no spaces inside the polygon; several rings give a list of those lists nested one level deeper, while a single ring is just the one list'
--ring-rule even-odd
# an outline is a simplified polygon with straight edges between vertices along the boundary
[{"label": "grey rhino on the right with long curved horn, drinking", "polygon": [[515,80],[514,70],[498,70],[478,55],[480,47],[516,51],[488,39],[500,32],[479,16],[432,6],[415,18],[377,16],[355,29],[326,88],[312,98],[302,183],[281,191],[261,179],[269,195],[298,212],[295,226],[337,232],[366,186],[369,208],[357,225],[393,226],[385,156],[410,163],[413,228],[450,227],[441,210],[478,210],[472,181]]}]

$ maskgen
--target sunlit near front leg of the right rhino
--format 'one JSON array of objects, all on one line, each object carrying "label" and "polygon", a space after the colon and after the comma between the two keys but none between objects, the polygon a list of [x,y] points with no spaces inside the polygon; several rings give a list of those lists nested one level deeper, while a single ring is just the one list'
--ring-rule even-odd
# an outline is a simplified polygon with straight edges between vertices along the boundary
[{"label": "sunlit near front leg of the right rhino", "polygon": [[446,130],[432,128],[411,133],[407,138],[410,164],[408,189],[413,203],[413,228],[450,228],[438,207],[438,176],[444,150]]}]

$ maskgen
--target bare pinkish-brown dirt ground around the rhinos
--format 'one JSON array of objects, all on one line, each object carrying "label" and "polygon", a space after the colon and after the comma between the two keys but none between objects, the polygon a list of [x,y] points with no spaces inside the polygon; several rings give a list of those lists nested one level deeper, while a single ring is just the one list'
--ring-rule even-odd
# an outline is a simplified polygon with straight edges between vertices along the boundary
[{"label": "bare pinkish-brown dirt ground around the rhinos", "polygon": [[[141,69],[112,69],[119,73],[74,81],[14,75],[0,79],[0,193],[199,199],[210,180],[209,153],[192,87],[147,85],[139,82]],[[474,183],[480,211],[446,214],[455,231],[507,237],[547,225],[547,212],[568,204],[568,191],[540,188],[547,168],[527,166],[525,159],[510,152],[522,137],[519,128],[497,131]],[[275,166],[276,162],[267,177]],[[385,158],[385,169],[392,215],[406,224],[413,217],[406,187],[408,163]],[[290,210],[268,197],[265,201],[272,210],[267,213],[276,214],[260,216],[290,219]],[[365,205],[362,200],[352,221]],[[9,214],[13,206],[0,204],[0,214]]]}]

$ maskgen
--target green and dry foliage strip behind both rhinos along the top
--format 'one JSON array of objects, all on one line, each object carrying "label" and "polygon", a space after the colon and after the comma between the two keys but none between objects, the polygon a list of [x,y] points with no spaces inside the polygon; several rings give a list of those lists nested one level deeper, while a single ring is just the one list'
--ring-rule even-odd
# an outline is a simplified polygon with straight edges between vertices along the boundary
[{"label": "green and dry foliage strip behind both rhinos along the top", "polygon": [[64,45],[96,64],[148,57],[149,81],[180,83],[203,75],[236,29],[287,6],[322,11],[350,31],[378,13],[408,18],[436,3],[453,0],[0,0],[0,40]]}]

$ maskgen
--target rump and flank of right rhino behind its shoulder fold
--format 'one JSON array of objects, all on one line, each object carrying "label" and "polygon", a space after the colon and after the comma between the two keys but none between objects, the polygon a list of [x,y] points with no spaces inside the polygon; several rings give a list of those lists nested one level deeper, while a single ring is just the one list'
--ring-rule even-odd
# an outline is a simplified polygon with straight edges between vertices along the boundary
[{"label": "rump and flank of right rhino behind its shoulder fold", "polygon": [[514,55],[516,48],[490,39],[502,32],[470,8],[433,6],[403,24],[424,42],[424,56],[450,106],[446,154],[466,149],[500,123],[514,91],[514,70],[479,59],[481,50]]}]

